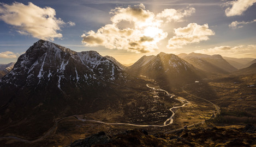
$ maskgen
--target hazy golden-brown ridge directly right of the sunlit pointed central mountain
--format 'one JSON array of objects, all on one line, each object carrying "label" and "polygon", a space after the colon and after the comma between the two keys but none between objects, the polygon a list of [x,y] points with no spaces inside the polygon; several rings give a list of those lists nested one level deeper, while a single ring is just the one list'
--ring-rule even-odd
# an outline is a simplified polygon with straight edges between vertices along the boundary
[{"label": "hazy golden-brown ridge directly right of the sunlit pointed central mountain", "polygon": [[182,57],[188,60],[189,63],[204,71],[227,73],[233,72],[237,69],[230,65],[221,55],[206,55],[200,53],[190,53]]}]

